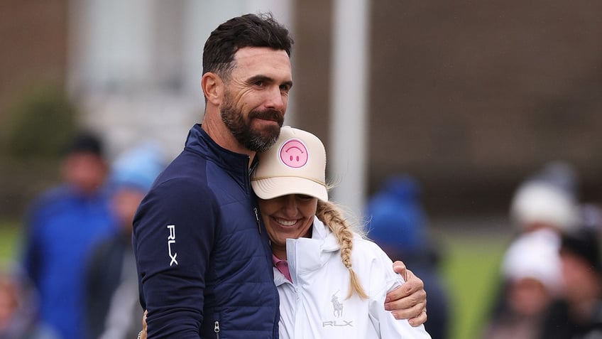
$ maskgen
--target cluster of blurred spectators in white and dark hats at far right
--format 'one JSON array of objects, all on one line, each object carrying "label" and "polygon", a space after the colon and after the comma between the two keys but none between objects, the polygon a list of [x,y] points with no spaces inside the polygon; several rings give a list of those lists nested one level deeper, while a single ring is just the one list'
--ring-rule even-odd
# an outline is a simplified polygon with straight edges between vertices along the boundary
[{"label": "cluster of blurred spectators in white and dark hats at far right", "polygon": [[600,206],[568,163],[547,163],[510,203],[515,238],[483,339],[602,338]]}]

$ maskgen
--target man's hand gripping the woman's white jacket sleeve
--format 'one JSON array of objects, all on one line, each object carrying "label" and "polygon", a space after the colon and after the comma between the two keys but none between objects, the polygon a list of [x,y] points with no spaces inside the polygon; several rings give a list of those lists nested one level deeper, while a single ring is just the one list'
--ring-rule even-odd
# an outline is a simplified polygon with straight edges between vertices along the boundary
[{"label": "man's hand gripping the woman's white jacket sleeve", "polygon": [[394,262],[393,271],[403,276],[405,284],[390,291],[385,299],[385,310],[392,311],[396,319],[409,319],[418,326],[427,321],[427,292],[425,284],[403,262]]}]

